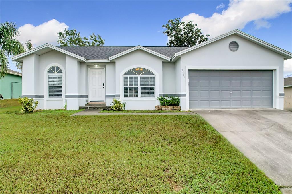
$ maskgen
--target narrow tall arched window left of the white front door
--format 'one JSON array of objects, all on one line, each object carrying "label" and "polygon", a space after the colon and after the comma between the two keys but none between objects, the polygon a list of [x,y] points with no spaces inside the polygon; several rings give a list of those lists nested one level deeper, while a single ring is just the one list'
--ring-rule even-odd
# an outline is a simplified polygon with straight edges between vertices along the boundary
[{"label": "narrow tall arched window left of the white front door", "polygon": [[48,96],[49,98],[62,98],[63,72],[57,66],[48,70]]}]

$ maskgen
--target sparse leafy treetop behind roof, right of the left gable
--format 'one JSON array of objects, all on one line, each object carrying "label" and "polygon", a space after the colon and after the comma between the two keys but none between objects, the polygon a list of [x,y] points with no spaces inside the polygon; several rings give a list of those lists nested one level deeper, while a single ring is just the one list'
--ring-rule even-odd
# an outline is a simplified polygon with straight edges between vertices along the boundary
[{"label": "sparse leafy treetop behind roof, right of the left gable", "polygon": [[87,37],[81,37],[80,33],[74,30],[64,30],[58,33],[58,43],[61,46],[101,46],[104,45],[105,40],[103,40],[99,34],[96,36],[94,33]]}]

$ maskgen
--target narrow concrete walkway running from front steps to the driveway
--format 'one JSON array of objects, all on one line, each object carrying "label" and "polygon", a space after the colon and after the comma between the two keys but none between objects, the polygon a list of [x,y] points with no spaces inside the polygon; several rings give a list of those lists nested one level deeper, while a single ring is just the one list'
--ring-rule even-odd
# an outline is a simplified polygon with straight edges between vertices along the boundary
[{"label": "narrow concrete walkway running from front steps to the driveway", "polygon": [[123,113],[123,112],[100,112],[101,109],[86,109],[71,116],[86,116],[86,115],[195,115],[193,112],[132,112],[132,113]]}]

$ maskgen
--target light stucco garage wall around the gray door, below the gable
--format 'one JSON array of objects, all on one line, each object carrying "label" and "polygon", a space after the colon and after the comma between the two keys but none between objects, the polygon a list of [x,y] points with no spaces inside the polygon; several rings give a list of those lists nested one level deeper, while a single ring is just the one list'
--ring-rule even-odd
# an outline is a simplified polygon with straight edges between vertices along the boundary
[{"label": "light stucco garage wall around the gray door, below the gable", "polygon": [[[236,41],[239,49],[232,52],[229,43]],[[261,47],[237,35],[227,36],[180,56],[180,91],[186,92],[188,109],[188,70],[189,69],[240,69],[274,70],[274,108],[283,109],[283,56]],[[177,72],[176,72],[177,73]],[[176,75],[178,77],[178,75]]]}]

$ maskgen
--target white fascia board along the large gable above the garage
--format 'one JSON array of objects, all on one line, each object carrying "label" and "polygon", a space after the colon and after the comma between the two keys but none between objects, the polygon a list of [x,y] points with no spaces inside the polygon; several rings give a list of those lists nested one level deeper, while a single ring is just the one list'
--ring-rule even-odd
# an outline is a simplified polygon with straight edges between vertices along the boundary
[{"label": "white fascia board along the large gable above the garage", "polygon": [[242,38],[245,38],[245,39],[250,40],[250,41],[252,41],[252,42],[254,42],[254,43],[258,44],[258,45],[261,45],[261,46],[263,46],[265,48],[268,48],[268,49],[270,49],[270,50],[272,50],[274,52],[277,52],[277,53],[283,55],[284,57],[286,57],[286,58],[284,58],[284,60],[292,58],[292,53],[291,52],[288,52],[288,51],[286,51],[284,49],[281,49],[281,48],[279,48],[277,46],[274,46],[274,45],[272,45],[270,43],[267,43],[267,42],[265,42],[263,40],[260,40],[260,39],[254,37],[254,36],[251,36],[251,35],[249,35],[247,33],[242,32],[242,31],[240,31],[238,29],[235,29],[233,31],[227,32],[225,34],[222,34],[220,36],[217,36],[215,38],[207,40],[206,42],[200,43],[198,45],[194,45],[194,46],[192,46],[190,48],[187,48],[185,50],[177,52],[171,57],[171,61],[175,61],[177,59],[177,57],[182,55],[182,54],[185,54],[187,52],[190,52],[190,51],[192,51],[194,49],[197,49],[199,47],[205,46],[207,44],[213,43],[213,42],[215,42],[217,40],[220,40],[220,39],[225,38],[227,36],[230,36],[232,34],[237,34],[237,35],[241,36]]}]

